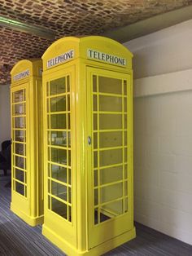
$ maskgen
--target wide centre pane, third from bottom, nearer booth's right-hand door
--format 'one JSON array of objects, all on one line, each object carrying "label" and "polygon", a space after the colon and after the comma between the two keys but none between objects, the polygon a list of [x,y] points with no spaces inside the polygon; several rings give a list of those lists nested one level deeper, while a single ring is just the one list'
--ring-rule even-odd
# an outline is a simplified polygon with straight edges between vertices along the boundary
[{"label": "wide centre pane, third from bottom, nearer booth's right-hand door", "polygon": [[100,170],[100,183],[113,183],[123,179],[123,166],[116,166]]}]

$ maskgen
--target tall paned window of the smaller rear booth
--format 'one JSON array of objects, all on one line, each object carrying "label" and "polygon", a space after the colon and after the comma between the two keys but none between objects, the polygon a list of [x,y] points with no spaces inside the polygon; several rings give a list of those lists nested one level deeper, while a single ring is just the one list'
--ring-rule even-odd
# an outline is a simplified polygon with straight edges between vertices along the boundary
[{"label": "tall paned window of the smaller rear booth", "polygon": [[[28,198],[28,173],[27,173],[27,142],[26,127],[26,90],[27,84],[23,84],[12,91],[12,186],[13,190],[20,194],[20,203],[26,205]],[[28,209],[28,205],[26,207]]]}]

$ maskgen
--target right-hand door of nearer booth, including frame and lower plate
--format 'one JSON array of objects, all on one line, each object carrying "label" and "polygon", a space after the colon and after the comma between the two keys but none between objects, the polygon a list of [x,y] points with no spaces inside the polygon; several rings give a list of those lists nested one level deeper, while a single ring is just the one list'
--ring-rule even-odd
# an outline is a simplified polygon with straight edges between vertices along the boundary
[{"label": "right-hand door of nearer booth, including frame and lower plate", "polygon": [[[89,216],[89,247],[93,247],[131,229],[128,192],[131,146],[127,138],[127,121],[131,118],[130,76],[96,68],[87,68],[87,72],[88,118],[92,120],[89,134],[93,140],[88,168],[92,170],[88,175],[93,184],[89,187],[92,195],[89,200],[94,204],[94,210],[89,206],[92,215]],[[115,233],[109,232],[105,238],[99,236],[114,225],[118,227]]]}]

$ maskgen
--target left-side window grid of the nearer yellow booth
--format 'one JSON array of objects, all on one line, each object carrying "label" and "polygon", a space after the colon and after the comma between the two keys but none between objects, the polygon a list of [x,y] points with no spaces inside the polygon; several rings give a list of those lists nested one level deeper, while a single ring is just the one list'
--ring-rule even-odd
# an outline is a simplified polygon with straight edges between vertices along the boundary
[{"label": "left-side window grid of the nearer yellow booth", "polygon": [[47,88],[48,208],[72,222],[70,77],[50,81]]}]

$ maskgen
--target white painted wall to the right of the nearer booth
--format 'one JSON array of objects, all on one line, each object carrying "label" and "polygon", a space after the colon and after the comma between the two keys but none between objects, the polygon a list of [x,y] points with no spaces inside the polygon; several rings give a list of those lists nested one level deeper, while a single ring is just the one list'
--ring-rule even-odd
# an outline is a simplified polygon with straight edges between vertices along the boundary
[{"label": "white painted wall to the right of the nearer booth", "polygon": [[135,220],[192,245],[192,20],[124,43],[134,54]]}]

